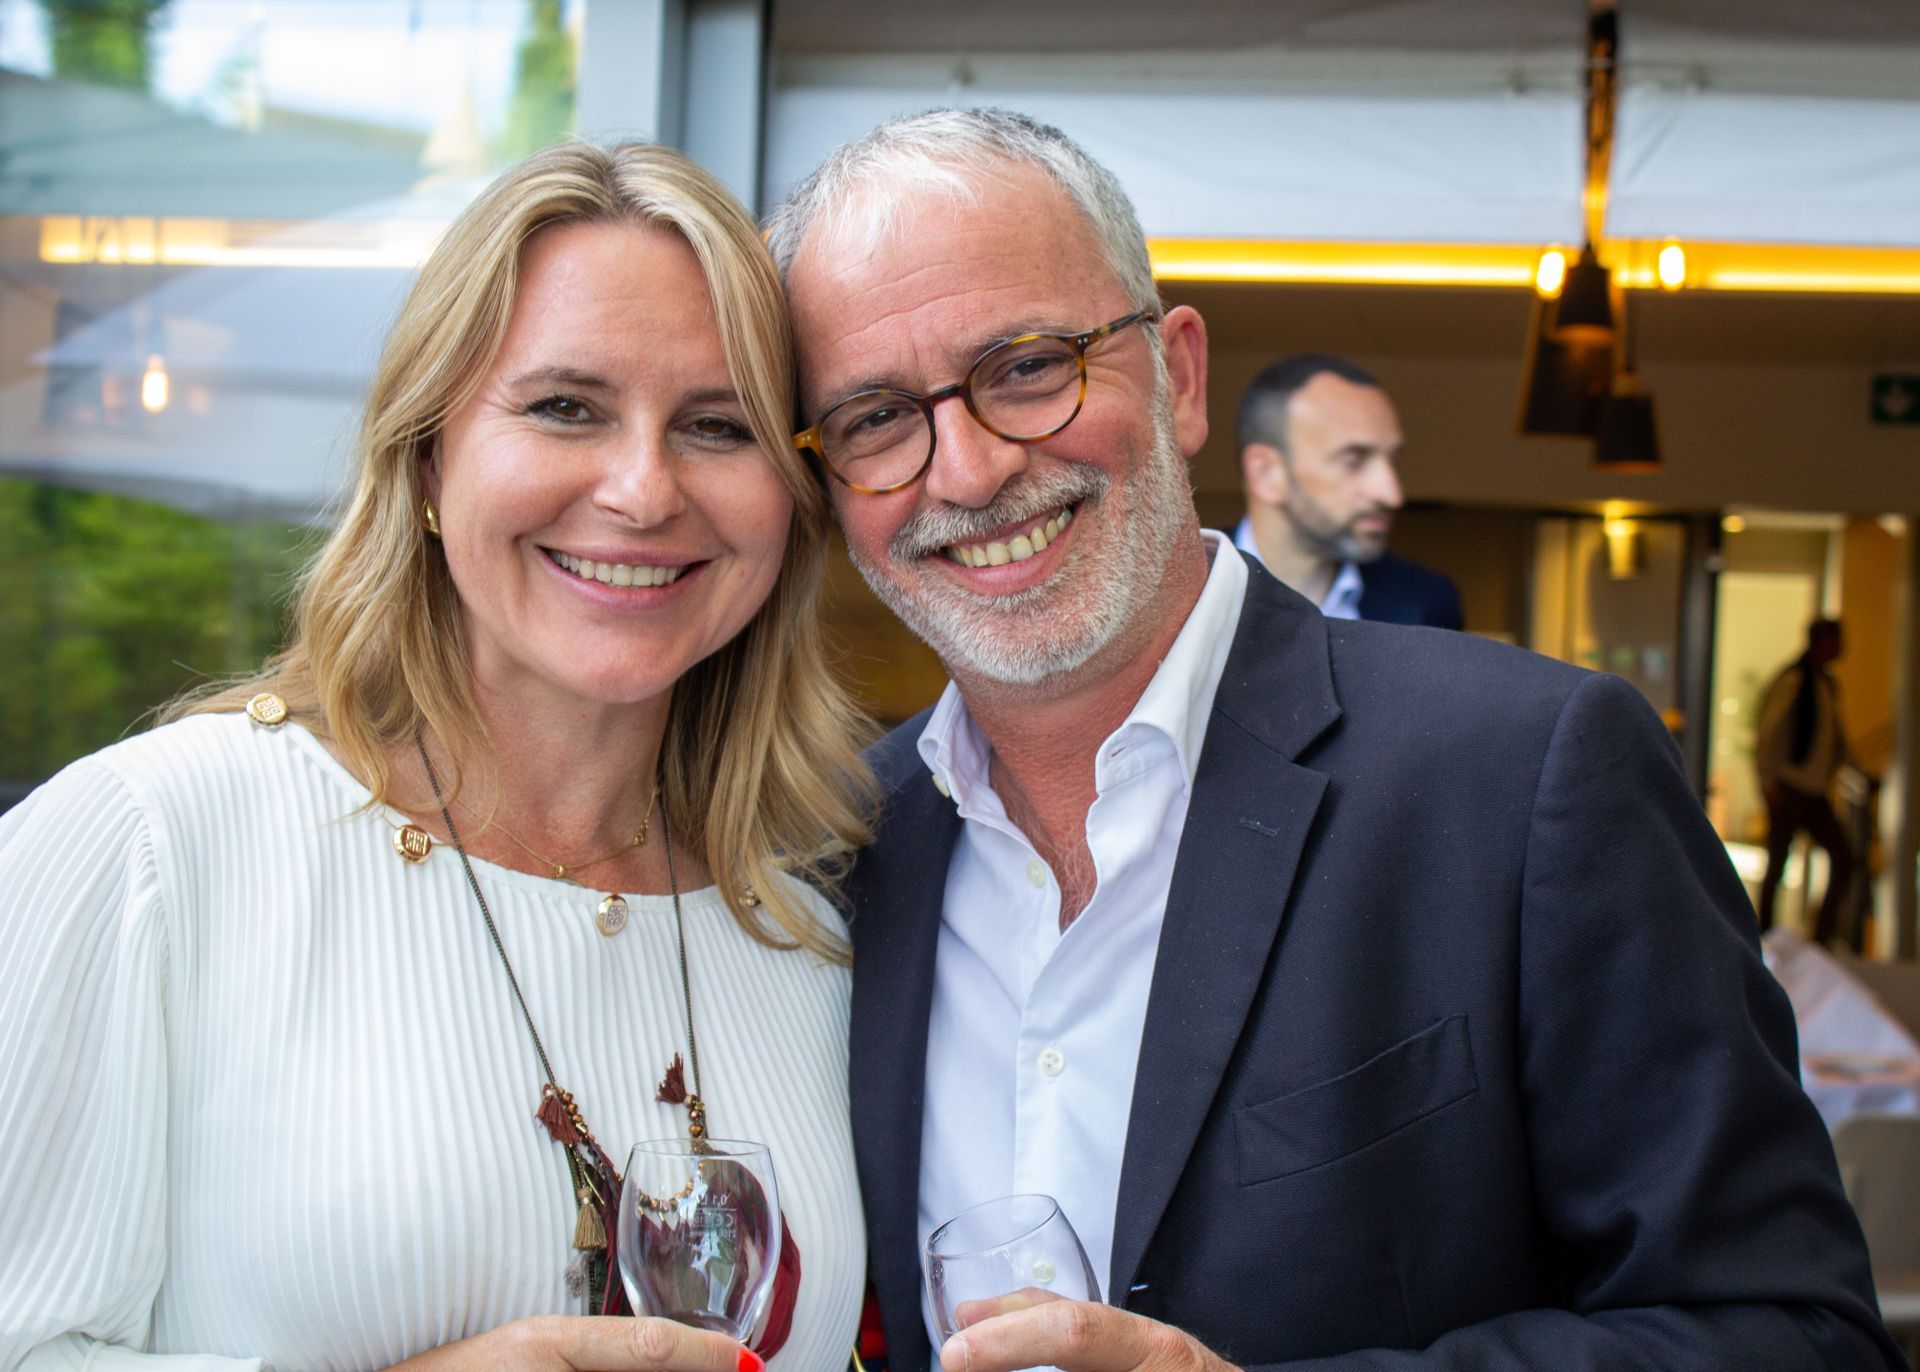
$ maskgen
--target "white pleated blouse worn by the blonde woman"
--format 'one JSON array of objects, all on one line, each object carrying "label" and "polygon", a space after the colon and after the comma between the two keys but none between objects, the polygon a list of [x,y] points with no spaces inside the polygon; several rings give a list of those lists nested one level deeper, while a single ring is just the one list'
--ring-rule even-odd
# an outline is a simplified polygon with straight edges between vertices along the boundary
[{"label": "white pleated blouse worn by the blonde woman", "polygon": [[[0,1372],[384,1368],[566,1291],[576,1205],[457,856],[397,858],[298,723],[171,723],[0,816]],[[674,911],[476,862],[555,1075],[618,1165],[684,1136]],[[839,917],[818,900],[820,919]],[[847,1366],[866,1243],[847,969],[682,896],[716,1138],[772,1146],[791,1372]],[[159,1360],[156,1355],[179,1355]]]}]

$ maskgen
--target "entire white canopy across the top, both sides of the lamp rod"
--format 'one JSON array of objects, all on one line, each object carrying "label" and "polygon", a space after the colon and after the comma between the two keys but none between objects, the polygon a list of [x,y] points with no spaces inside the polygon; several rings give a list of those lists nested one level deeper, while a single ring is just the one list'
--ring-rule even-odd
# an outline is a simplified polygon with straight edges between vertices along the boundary
[{"label": "entire white canopy across the top, both sides of the lamp rod", "polygon": [[[1079,138],[1156,236],[1580,238],[1580,0],[776,15],[766,203],[889,115],[1000,104]],[[1622,0],[1607,232],[1920,246],[1920,4]]]}]

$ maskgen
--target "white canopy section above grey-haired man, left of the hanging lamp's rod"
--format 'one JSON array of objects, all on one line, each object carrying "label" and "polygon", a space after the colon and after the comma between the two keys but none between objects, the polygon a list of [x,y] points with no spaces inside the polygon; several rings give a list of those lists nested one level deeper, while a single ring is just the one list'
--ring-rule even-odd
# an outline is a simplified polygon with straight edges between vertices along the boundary
[{"label": "white canopy section above grey-haired man, left of the hanging lamp's rod", "polygon": [[778,13],[766,203],[891,115],[1010,106],[1112,167],[1156,236],[1580,232],[1580,4],[987,0],[931,29],[876,0]]}]

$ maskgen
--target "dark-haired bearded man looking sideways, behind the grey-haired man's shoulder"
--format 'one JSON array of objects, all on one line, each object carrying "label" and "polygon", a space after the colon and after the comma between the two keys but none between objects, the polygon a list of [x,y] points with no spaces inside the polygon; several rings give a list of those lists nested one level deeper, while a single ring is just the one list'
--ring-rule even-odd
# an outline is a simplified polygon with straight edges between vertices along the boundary
[{"label": "dark-haired bearded man looking sideways, behind the grey-haired man's shoulder", "polygon": [[1386,551],[1402,505],[1400,416],[1367,368],[1329,353],[1283,357],[1240,397],[1238,439],[1242,553],[1329,618],[1463,627],[1453,583]]}]

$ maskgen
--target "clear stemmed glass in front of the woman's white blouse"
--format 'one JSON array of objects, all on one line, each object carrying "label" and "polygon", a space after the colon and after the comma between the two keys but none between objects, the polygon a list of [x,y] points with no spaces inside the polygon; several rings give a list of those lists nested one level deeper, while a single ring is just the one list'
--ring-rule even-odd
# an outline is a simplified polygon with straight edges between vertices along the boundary
[{"label": "clear stemmed glass in front of the woman's white blouse", "polygon": [[614,1247],[636,1314],[747,1341],[780,1268],[780,1190],[766,1144],[634,1144]]}]

